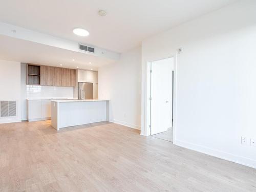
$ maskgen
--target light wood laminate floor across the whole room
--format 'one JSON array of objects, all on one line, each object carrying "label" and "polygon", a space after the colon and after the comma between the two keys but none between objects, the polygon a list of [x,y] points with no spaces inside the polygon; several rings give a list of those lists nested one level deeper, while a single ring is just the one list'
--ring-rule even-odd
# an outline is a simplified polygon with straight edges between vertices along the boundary
[{"label": "light wood laminate floor across the whole room", "polygon": [[256,169],[114,123],[0,124],[0,191],[256,191]]}]

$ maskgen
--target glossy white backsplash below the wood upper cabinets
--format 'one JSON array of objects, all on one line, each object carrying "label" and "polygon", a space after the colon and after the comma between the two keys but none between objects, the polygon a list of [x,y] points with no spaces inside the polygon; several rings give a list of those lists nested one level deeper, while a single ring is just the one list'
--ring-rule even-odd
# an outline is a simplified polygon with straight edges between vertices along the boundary
[{"label": "glossy white backsplash below the wood upper cabinets", "polygon": [[27,86],[27,98],[73,98],[73,87]]}]

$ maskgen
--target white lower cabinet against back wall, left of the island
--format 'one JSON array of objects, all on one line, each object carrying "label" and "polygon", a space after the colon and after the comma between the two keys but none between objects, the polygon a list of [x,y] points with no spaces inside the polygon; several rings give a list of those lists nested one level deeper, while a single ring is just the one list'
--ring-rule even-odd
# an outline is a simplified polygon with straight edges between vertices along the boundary
[{"label": "white lower cabinet against back wall, left of the island", "polygon": [[27,100],[28,121],[40,121],[51,118],[51,100]]}]

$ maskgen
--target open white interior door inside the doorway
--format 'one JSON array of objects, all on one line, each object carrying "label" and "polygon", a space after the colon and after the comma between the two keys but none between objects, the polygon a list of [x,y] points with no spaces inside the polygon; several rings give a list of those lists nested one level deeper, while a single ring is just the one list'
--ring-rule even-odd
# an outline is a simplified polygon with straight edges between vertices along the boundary
[{"label": "open white interior door inside the doorway", "polygon": [[151,135],[172,127],[173,67],[173,57],[151,63]]}]

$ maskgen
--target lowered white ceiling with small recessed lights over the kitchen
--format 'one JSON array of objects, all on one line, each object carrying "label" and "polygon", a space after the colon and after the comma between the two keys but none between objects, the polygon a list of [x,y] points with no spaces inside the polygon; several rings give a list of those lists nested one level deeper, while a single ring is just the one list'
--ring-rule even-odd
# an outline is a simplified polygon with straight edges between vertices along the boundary
[{"label": "lowered white ceiling with small recessed lights over the kitchen", "polygon": [[104,57],[95,57],[4,35],[0,35],[0,59],[57,67],[62,64],[65,68],[78,67],[94,71],[97,71],[98,67],[114,62]]}]

